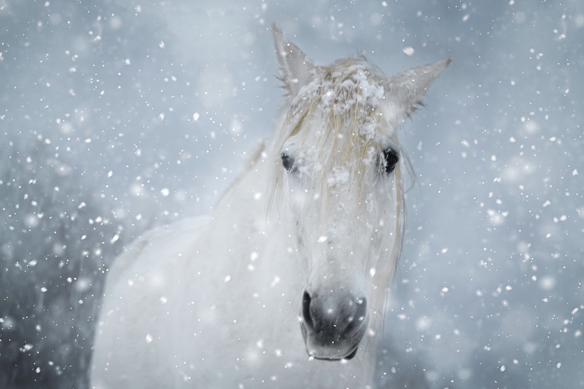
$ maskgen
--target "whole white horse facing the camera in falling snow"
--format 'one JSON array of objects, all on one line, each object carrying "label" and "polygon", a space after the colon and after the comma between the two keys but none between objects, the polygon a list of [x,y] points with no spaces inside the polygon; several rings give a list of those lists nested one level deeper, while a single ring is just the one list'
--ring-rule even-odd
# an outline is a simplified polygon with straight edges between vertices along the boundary
[{"label": "whole white horse facing the camera in falling snow", "polygon": [[396,128],[450,63],[314,65],[273,26],[288,111],[218,202],[109,271],[99,388],[367,388],[404,224]]}]

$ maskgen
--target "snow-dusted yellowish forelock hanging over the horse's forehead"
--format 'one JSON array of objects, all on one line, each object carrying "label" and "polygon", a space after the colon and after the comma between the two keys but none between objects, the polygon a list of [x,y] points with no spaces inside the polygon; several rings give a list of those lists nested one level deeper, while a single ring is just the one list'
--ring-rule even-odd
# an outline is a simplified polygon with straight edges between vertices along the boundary
[{"label": "snow-dusted yellowish forelock hanging over the horse's forehead", "polygon": [[279,155],[291,138],[297,143],[298,154],[308,148],[318,153],[322,177],[317,178],[323,183],[324,192],[328,189],[325,183],[331,181],[328,176],[332,168],[342,166],[350,173],[351,187],[359,188],[361,197],[367,194],[369,181],[363,173],[372,164],[383,168],[376,160],[384,146],[380,140],[390,139],[399,147],[395,129],[383,116],[388,104],[384,80],[380,69],[363,55],[339,59],[331,66],[317,69],[314,79],[291,101],[276,135],[270,203],[281,191],[283,175]]}]

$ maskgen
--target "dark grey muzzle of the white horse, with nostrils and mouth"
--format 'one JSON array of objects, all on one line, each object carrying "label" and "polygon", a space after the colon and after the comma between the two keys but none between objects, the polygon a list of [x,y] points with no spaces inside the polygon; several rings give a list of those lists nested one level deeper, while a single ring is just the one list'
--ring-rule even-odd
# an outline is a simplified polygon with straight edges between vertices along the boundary
[{"label": "dark grey muzzle of the white horse, with nostrils and mouth", "polygon": [[308,355],[317,359],[351,359],[367,330],[367,300],[304,292],[300,328]]}]

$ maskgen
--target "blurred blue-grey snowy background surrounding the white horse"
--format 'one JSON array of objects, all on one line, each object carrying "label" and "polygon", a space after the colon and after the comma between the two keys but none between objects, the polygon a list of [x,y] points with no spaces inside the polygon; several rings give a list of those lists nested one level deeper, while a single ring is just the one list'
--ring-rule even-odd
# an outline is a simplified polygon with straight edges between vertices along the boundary
[{"label": "blurred blue-grey snowy background surrounding the white horse", "polygon": [[88,387],[105,271],[207,215],[318,64],[452,57],[401,130],[416,180],[380,388],[584,387],[584,3],[0,0],[0,388]]}]

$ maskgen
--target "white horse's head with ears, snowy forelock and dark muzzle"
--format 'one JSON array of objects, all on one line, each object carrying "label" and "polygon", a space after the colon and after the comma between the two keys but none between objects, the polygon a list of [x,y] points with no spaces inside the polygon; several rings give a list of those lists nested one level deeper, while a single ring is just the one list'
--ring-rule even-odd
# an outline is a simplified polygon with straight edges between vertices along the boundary
[{"label": "white horse's head with ears, snowy forelock and dark muzzle", "polygon": [[290,107],[273,188],[306,272],[301,332],[310,356],[350,359],[383,314],[399,256],[407,158],[396,129],[450,59],[391,78],[363,56],[317,66],[272,28]]}]

